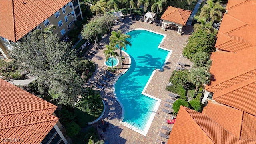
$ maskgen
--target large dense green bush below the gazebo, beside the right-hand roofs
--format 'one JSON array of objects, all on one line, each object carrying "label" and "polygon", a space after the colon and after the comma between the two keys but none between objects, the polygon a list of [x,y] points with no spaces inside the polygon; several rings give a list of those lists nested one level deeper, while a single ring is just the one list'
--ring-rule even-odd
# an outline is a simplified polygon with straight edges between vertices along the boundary
[{"label": "large dense green bush below the gazebo, beside the right-hand roofs", "polygon": [[198,30],[197,32],[193,32],[189,37],[188,44],[183,49],[183,55],[191,60],[197,52],[206,52],[211,54],[214,49],[214,44],[214,34],[208,34],[204,30]]}]

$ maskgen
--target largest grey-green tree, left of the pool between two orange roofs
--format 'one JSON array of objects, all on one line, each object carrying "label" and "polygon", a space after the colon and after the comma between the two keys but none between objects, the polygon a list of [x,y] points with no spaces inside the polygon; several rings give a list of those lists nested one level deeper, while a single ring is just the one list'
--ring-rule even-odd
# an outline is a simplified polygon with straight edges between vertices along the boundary
[{"label": "largest grey-green tree, left of the pool between two orange roofs", "polygon": [[71,66],[76,53],[70,43],[39,33],[24,38],[13,47],[12,54],[22,70],[38,77],[40,90],[46,89],[58,104],[74,106],[83,82]]}]

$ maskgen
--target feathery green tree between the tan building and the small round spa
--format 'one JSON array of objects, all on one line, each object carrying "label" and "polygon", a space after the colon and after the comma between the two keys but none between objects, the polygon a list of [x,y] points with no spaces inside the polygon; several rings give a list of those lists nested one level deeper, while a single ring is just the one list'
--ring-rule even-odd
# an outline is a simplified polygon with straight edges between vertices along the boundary
[{"label": "feathery green tree between the tan building and the small round spa", "polygon": [[94,16],[89,23],[84,25],[81,36],[84,40],[94,40],[95,35],[104,35],[108,31],[108,27],[114,24],[115,17],[113,15]]}]

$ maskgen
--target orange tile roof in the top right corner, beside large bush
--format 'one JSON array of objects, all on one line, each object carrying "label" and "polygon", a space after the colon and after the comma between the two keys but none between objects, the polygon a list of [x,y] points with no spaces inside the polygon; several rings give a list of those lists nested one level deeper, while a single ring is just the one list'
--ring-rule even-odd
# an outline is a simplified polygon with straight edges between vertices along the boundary
[{"label": "orange tile roof in the top right corner, beside large bush", "polygon": [[229,0],[227,7],[228,14],[222,18],[215,47],[236,53],[256,46],[255,1]]}]

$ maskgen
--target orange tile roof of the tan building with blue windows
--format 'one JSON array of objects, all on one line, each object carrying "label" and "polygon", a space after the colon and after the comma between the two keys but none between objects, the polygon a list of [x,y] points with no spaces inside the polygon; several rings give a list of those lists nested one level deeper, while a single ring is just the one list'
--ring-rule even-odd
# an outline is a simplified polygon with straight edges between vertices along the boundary
[{"label": "orange tile roof of the tan building with blue windows", "polygon": [[70,1],[0,0],[0,36],[16,42]]}]

